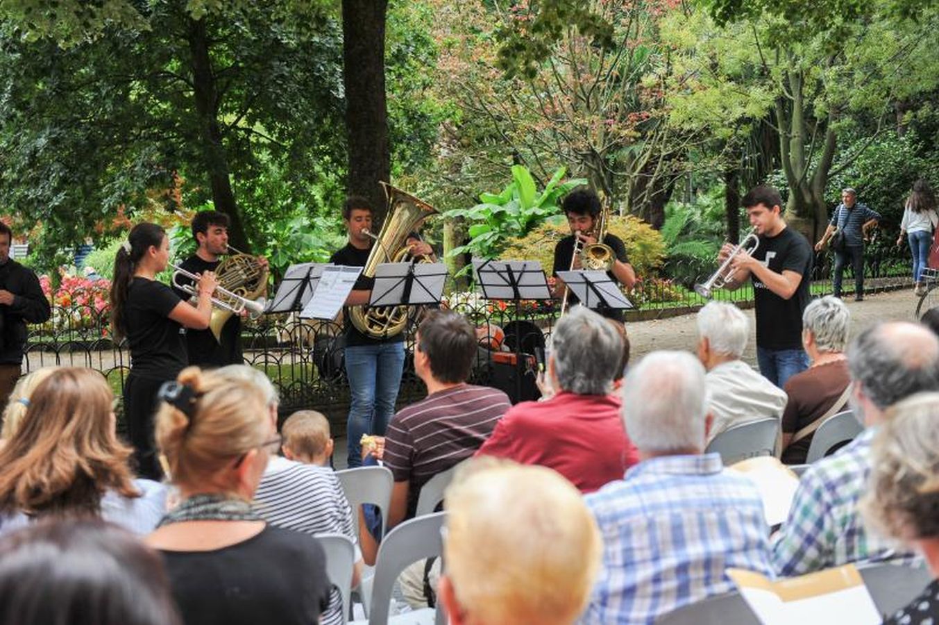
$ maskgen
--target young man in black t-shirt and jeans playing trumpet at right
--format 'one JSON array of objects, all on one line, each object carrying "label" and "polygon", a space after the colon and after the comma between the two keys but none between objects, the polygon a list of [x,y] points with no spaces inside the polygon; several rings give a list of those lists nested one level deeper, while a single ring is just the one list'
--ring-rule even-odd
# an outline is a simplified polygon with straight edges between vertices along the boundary
[{"label": "young man in black t-shirt and jeans playing trumpet at right", "polygon": [[[757,317],[757,361],[760,372],[779,388],[808,368],[802,347],[802,312],[809,300],[812,248],[801,233],[786,226],[782,198],[770,186],[758,186],[744,196],[750,226],[760,239],[752,256],[731,261],[728,289],[738,289],[752,278]],[[720,250],[723,263],[731,244]]]}]

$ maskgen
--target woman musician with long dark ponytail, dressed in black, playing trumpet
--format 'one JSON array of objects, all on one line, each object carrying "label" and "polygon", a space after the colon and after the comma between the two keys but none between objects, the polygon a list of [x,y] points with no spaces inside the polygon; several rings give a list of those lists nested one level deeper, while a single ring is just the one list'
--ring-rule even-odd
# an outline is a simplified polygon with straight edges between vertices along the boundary
[{"label": "woman musician with long dark ponytail, dressed in black, playing trumpet", "polygon": [[160,479],[153,439],[157,391],[188,365],[184,328],[205,329],[212,314],[215,274],[203,273],[198,304],[179,299],[156,280],[169,262],[170,242],[156,224],[137,224],[117,250],[111,285],[111,315],[116,340],[127,337],[131,373],[124,383],[124,415],[141,477]]}]

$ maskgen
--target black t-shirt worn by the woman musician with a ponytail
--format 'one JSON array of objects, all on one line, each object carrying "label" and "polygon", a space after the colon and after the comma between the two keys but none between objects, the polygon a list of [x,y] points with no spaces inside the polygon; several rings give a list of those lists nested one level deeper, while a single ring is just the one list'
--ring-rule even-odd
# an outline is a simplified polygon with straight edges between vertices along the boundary
[{"label": "black t-shirt worn by the woman musician with a ponytail", "polygon": [[162,282],[142,277],[131,279],[125,320],[134,375],[174,380],[188,364],[185,329],[169,318],[179,301],[173,289]]}]

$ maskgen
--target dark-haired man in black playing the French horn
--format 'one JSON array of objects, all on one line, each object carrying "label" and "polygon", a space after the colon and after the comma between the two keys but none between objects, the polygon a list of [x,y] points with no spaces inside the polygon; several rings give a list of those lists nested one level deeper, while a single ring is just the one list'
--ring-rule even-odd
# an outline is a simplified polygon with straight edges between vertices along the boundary
[{"label": "dark-haired man in black playing the French horn", "polygon": [[[202,211],[192,218],[192,238],[199,247],[190,258],[186,258],[179,267],[191,273],[215,272],[223,254],[228,254],[228,215],[219,211]],[[266,258],[258,258],[263,265]],[[192,284],[185,277],[177,279],[179,284]],[[190,295],[182,289],[173,289],[182,300],[189,300]],[[225,321],[218,339],[211,330],[189,330],[186,332],[186,348],[189,352],[189,364],[200,367],[224,367],[240,365],[241,355],[241,319],[232,315]]]}]

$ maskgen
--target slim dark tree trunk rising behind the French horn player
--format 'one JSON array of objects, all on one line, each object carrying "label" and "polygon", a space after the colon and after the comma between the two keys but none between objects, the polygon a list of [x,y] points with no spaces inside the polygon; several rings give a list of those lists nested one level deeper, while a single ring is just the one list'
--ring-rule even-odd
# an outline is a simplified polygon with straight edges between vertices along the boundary
[{"label": "slim dark tree trunk rising behind the French horn player", "polygon": [[228,158],[222,143],[222,130],[219,128],[219,96],[208,55],[208,34],[204,19],[189,21],[189,50],[192,55],[192,94],[199,117],[199,139],[212,188],[212,202],[216,211],[224,212],[231,220],[228,227],[229,241],[248,252],[248,238],[232,191]]}]

